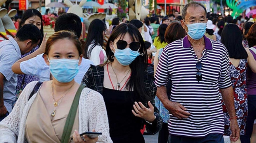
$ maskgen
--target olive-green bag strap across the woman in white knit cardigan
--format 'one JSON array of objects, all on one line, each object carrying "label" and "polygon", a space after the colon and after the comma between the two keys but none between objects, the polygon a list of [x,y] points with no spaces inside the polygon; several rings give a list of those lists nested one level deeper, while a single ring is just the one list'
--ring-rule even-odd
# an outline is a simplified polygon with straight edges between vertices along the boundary
[{"label": "olive-green bag strap across the woman in white knit cardigan", "polygon": [[61,143],[69,142],[69,137],[71,135],[71,131],[73,128],[74,119],[76,118],[76,111],[78,108],[79,98],[84,87],[85,85],[81,84],[78,90],[76,91],[76,95],[74,97],[73,103],[67,115],[67,120],[64,126],[62,137],[61,137]]}]

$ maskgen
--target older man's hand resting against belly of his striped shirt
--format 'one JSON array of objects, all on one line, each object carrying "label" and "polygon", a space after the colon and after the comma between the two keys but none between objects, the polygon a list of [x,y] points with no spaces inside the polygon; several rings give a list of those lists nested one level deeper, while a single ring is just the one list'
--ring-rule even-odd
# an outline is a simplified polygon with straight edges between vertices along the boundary
[{"label": "older man's hand resting against belly of his striped shirt", "polygon": [[166,101],[164,104],[164,108],[166,108],[173,116],[179,119],[189,118],[190,116],[190,113],[186,111],[187,108],[177,102]]}]

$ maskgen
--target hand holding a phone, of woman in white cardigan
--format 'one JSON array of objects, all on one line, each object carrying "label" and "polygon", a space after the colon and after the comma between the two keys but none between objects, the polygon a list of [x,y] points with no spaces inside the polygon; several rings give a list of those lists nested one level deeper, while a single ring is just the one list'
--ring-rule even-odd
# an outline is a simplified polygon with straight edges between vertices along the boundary
[{"label": "hand holding a phone, of woman in white cardigan", "polygon": [[[92,132],[95,132],[95,130],[92,130]],[[86,135],[83,135],[83,138],[79,135],[78,131],[75,130],[73,133],[73,141],[74,143],[96,143],[99,138],[89,138]]]}]

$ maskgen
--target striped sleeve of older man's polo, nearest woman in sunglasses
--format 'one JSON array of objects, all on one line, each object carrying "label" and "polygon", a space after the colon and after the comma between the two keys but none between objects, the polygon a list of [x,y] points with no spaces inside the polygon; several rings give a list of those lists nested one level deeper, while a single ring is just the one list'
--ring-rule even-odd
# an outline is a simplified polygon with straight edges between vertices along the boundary
[{"label": "striped sleeve of older man's polo, nearest woman in sunglasses", "polygon": [[157,87],[165,86],[169,79],[168,74],[168,48],[165,48],[159,59],[156,69],[155,84]]}]

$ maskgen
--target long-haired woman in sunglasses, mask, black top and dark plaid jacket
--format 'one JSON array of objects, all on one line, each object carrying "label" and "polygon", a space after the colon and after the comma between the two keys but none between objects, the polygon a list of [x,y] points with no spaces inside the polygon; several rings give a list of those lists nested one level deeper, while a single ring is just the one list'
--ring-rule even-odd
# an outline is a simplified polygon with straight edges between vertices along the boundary
[{"label": "long-haired woman in sunglasses, mask, black top and dark plaid jacket", "polygon": [[131,24],[115,28],[106,46],[107,62],[91,66],[82,83],[102,94],[114,143],[145,143],[140,129],[161,129],[162,118],[154,108],[154,73],[146,71],[143,38]]}]

